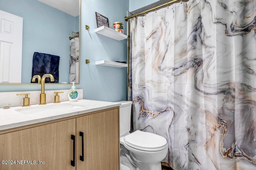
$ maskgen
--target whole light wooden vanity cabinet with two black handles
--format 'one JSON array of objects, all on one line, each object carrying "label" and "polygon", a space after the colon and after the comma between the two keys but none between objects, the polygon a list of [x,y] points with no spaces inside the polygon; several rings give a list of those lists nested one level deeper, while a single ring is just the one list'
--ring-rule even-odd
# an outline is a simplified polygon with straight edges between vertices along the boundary
[{"label": "whole light wooden vanity cabinet with two black handles", "polygon": [[0,170],[120,169],[118,107],[0,134]]}]

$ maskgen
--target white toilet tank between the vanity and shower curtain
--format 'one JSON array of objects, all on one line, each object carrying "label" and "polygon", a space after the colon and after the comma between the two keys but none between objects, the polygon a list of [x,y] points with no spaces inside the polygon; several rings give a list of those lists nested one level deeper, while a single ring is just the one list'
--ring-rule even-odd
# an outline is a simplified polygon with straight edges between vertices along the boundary
[{"label": "white toilet tank between the vanity and shower curtain", "polygon": [[122,135],[129,133],[131,129],[131,111],[132,111],[132,101],[120,101],[120,137]]}]

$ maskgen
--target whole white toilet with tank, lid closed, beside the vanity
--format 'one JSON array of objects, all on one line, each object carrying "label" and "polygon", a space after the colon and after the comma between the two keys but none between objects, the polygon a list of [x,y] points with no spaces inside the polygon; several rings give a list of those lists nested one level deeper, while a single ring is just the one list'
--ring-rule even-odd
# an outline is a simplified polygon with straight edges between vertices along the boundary
[{"label": "whole white toilet with tank, lid closed, beside the vanity", "polygon": [[[164,137],[144,131],[130,133],[132,102],[120,101],[120,145],[130,152],[130,163],[136,170],[162,170],[161,161],[168,152]],[[122,170],[122,169],[121,169]]]}]

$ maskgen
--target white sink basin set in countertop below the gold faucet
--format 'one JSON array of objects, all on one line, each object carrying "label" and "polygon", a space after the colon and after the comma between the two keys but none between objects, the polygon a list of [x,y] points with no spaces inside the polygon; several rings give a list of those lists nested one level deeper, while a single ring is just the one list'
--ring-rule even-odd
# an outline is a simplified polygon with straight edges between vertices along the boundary
[{"label": "white sink basin set in countertop below the gold faucet", "polygon": [[67,112],[67,111],[79,111],[81,109],[86,109],[86,106],[81,106],[77,104],[53,104],[45,106],[35,106],[35,107],[26,107],[15,109],[22,114],[40,114],[40,113],[49,113],[49,112]]}]

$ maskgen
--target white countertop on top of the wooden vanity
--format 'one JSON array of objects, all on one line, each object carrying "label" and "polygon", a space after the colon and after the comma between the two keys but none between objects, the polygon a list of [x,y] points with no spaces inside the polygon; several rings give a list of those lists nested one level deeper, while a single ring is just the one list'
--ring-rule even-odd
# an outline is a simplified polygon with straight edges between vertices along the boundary
[{"label": "white countertop on top of the wooden vanity", "polygon": [[78,100],[78,102],[34,104],[28,107],[16,106],[9,109],[0,108],[0,131],[41,123],[45,121],[70,117],[92,111],[120,106],[120,103],[96,100]]}]

